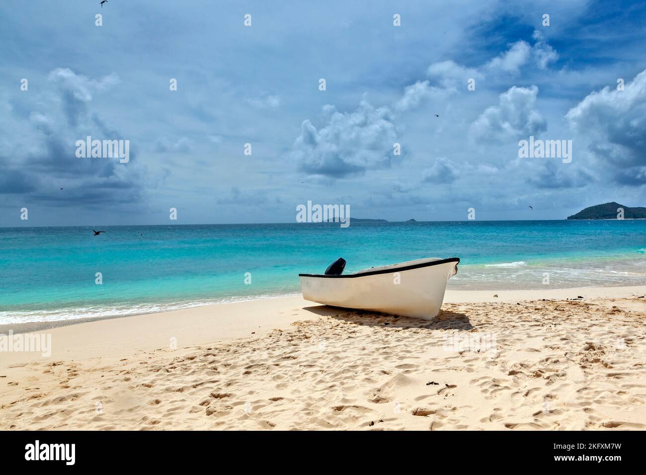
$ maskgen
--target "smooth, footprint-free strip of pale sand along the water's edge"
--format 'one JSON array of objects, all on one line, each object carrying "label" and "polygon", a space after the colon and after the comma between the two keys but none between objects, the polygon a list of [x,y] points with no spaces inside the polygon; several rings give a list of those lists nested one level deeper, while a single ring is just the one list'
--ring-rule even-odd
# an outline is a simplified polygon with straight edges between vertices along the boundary
[{"label": "smooth, footprint-free strip of pale sand along the water's edge", "polygon": [[[497,297],[494,297],[497,295]],[[442,310],[452,304],[508,304],[536,301],[577,301],[621,299],[646,295],[646,286],[589,287],[546,290],[446,290]],[[644,299],[646,300],[646,299]],[[52,337],[52,355],[48,360],[101,358],[130,355],[167,348],[169,339],[178,347],[232,341],[260,335],[297,321],[320,316],[339,315],[353,310],[309,302],[302,296],[256,299],[183,308],[179,310],[100,317],[70,321],[32,322],[0,325],[0,334],[44,334]],[[359,311],[363,312],[363,311]],[[366,313],[366,312],[363,312]],[[375,318],[388,315],[368,313]],[[417,319],[413,319],[417,321]],[[425,321],[419,321],[425,322]],[[40,356],[28,352],[3,352],[0,368],[20,364]]]}]

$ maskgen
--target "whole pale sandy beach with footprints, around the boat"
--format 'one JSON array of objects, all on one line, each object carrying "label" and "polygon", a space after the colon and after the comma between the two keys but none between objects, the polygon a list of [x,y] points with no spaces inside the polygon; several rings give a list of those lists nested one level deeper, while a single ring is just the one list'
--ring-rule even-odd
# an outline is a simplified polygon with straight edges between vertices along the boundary
[{"label": "whole pale sandy beach with footprints, around the boat", "polygon": [[0,429],[643,429],[644,295],[448,290],[430,322],[286,297],[2,326],[52,348],[0,353]]}]

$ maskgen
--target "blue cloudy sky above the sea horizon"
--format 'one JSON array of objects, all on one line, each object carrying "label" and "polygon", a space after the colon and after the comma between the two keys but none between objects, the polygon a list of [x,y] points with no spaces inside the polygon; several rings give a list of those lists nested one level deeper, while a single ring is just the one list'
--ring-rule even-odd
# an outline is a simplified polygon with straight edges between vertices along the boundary
[{"label": "blue cloudy sky above the sea horizon", "polygon": [[[5,0],[0,226],[646,206],[645,19],[584,0]],[[130,161],[77,158],[86,136],[129,140]],[[572,140],[572,161],[519,158],[529,136]]]}]

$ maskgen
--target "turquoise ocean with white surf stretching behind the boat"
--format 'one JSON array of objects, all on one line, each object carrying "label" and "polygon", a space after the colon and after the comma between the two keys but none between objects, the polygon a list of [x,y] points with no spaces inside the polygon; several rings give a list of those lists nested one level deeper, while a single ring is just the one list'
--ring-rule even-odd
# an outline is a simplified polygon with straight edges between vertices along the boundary
[{"label": "turquoise ocean with white surf stretching behind the boat", "polygon": [[322,273],[338,257],[346,272],[459,257],[457,290],[646,284],[646,220],[101,229],[0,228],[0,324],[298,295],[299,272]]}]

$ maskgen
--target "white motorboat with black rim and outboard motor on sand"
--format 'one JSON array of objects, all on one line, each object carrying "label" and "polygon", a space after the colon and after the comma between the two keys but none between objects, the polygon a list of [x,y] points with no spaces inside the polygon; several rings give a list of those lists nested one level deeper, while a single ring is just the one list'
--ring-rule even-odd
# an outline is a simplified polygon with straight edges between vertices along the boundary
[{"label": "white motorboat with black rim and outboard motor on sand", "polygon": [[459,262],[457,257],[430,257],[343,275],[346,261],[339,259],[324,274],[298,277],[307,301],[431,320],[440,311],[446,282],[457,273]]}]

